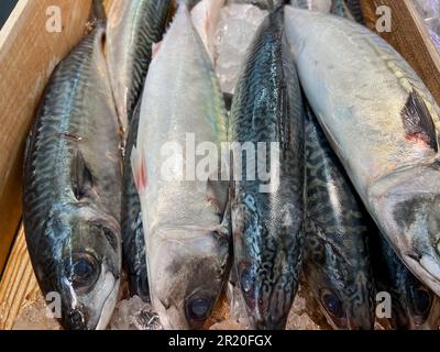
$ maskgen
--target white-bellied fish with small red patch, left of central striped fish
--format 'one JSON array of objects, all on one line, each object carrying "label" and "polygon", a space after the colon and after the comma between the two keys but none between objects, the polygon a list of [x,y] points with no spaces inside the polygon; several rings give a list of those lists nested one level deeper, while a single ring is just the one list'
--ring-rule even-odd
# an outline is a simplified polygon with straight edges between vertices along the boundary
[{"label": "white-bellied fish with small red patch, left of central striped fish", "polygon": [[226,109],[212,64],[182,4],[151,63],[131,155],[150,294],[166,329],[202,328],[227,280],[229,183],[216,180],[217,154],[209,157],[216,166],[210,173],[195,173],[190,160],[198,165],[202,158],[187,146],[220,150],[226,141]]}]

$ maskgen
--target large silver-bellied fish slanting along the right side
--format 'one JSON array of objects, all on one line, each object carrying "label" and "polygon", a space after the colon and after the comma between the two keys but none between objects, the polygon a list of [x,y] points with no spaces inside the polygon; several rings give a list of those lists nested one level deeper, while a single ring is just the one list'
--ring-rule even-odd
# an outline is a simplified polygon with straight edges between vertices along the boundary
[{"label": "large silver-bellied fish slanting along the right side", "polygon": [[[286,7],[301,86],[369,212],[409,270],[440,294],[440,109],[366,28]],[[342,53],[342,55],[341,55]]]}]

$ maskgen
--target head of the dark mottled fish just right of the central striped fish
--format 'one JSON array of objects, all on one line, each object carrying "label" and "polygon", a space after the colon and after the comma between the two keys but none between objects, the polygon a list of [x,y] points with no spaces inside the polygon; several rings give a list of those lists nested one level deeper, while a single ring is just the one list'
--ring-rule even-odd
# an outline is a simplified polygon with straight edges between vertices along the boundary
[{"label": "head of the dark mottled fish just right of the central striped fish", "polygon": [[[309,252],[311,249],[314,251]],[[307,289],[333,329],[371,330],[375,301],[370,262],[354,255],[348,258],[350,255],[339,251],[329,243],[306,245],[304,276]]]}]

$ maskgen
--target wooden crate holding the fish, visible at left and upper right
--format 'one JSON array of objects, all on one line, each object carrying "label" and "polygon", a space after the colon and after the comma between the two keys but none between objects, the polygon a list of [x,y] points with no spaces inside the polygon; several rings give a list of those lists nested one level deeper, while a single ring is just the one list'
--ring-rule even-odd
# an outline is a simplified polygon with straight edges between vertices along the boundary
[{"label": "wooden crate holding the fish, visible at left and upper right", "polygon": [[[124,1],[124,0],[118,0]],[[110,0],[106,1],[108,7]],[[361,0],[374,30],[375,9],[393,11],[393,31],[381,33],[413,65],[440,103],[440,57],[411,0]],[[63,31],[48,33],[46,9],[62,9]],[[56,64],[81,38],[91,0],[20,0],[0,32],[0,330],[40,294],[21,224],[24,141]]]}]

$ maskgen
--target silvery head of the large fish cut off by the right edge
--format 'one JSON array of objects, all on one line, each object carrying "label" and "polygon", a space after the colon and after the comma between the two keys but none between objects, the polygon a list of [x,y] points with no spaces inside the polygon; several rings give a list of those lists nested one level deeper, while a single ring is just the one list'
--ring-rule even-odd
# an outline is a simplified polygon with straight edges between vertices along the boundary
[{"label": "silvery head of the large fish cut off by the right edge", "polygon": [[406,266],[440,295],[439,163],[378,182],[370,193],[374,218]]}]

